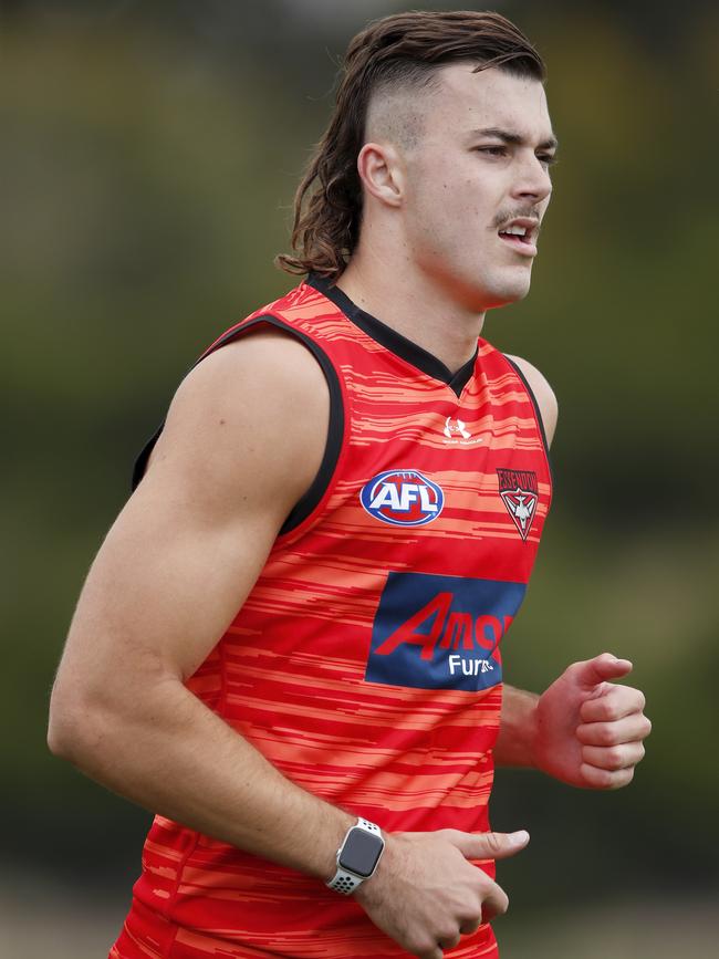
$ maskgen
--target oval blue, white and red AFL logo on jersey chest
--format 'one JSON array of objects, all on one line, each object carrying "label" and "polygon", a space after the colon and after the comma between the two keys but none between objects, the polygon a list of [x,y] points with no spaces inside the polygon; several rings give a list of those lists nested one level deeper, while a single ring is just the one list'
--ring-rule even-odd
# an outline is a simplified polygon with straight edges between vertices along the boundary
[{"label": "oval blue, white and red AFL logo on jersey chest", "polygon": [[424,527],[445,505],[441,487],[414,469],[390,469],[373,477],[359,492],[371,517],[394,527]]}]

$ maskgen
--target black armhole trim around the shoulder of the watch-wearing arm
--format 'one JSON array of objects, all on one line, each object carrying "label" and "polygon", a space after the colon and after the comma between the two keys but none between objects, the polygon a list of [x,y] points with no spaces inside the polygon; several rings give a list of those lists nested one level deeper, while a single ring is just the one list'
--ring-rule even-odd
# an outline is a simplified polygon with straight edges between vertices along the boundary
[{"label": "black armhole trim around the shoulder of the watch-wearing arm", "polygon": [[[340,459],[340,451],[342,449],[342,440],[344,437],[344,404],[342,402],[342,387],[340,386],[340,378],[337,376],[336,369],[332,365],[330,357],[324,352],[324,350],[322,350],[322,347],[314,342],[314,340],[306,335],[306,333],[302,333],[301,331],[295,330],[293,326],[290,326],[288,323],[283,323],[281,320],[278,320],[277,316],[263,314],[262,316],[257,316],[254,320],[250,320],[248,323],[244,323],[241,326],[236,327],[235,330],[230,330],[228,333],[225,334],[225,336],[220,337],[220,340],[218,340],[217,343],[215,343],[207,353],[202,354],[202,356],[200,356],[197,363],[195,363],[190,368],[194,369],[198,363],[201,363],[206,356],[215,353],[215,351],[219,350],[220,346],[225,346],[227,343],[231,343],[233,340],[247,333],[248,330],[252,330],[256,326],[263,324],[267,324],[269,326],[275,326],[278,330],[290,333],[292,336],[300,340],[320,364],[322,372],[324,373],[324,378],[327,382],[327,387],[330,389],[330,426],[327,429],[327,440],[324,447],[324,454],[322,455],[322,462],[320,463],[316,476],[310,483],[309,489],[290,510],[288,518],[282,523],[282,528],[280,529],[280,532],[278,534],[279,536],[282,536],[295,530],[310,515],[312,515],[314,510],[319,507],[322,497],[325,494],[327,487],[330,486],[335,467],[337,465],[337,460]],[[139,456],[135,460],[135,466],[133,469],[133,490],[136,489],[137,484],[139,483],[145,473],[149,456],[155,447],[155,444],[159,439],[164,427],[165,421],[163,421],[160,427],[145,444]]]}]

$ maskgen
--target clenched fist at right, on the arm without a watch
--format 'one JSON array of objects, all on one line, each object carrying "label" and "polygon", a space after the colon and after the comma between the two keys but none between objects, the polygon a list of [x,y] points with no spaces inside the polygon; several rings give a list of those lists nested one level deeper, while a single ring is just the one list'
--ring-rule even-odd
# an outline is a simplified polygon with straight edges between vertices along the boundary
[{"label": "clenched fist at right, on the arm without a watch", "polygon": [[538,769],[571,785],[618,789],[634,776],[652,731],[638,689],[608,682],[632,671],[608,653],[574,663],[540,696],[533,757]]}]

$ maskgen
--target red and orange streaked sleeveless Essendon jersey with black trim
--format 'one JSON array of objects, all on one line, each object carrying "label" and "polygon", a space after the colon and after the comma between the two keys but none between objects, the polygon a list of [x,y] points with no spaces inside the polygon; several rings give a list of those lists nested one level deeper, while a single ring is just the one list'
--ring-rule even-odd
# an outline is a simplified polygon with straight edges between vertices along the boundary
[{"label": "red and orange streaked sleeveless Essendon jersey with black trim", "polygon": [[[302,340],[322,365],[327,446],[249,597],[187,686],[288,779],[385,831],[486,831],[500,640],[551,498],[531,390],[481,338],[452,376],[316,278],[207,353],[262,324]],[[478,865],[493,875],[493,863]],[[352,897],[161,816],[111,952],[406,955]],[[446,955],[497,956],[489,925]]]}]

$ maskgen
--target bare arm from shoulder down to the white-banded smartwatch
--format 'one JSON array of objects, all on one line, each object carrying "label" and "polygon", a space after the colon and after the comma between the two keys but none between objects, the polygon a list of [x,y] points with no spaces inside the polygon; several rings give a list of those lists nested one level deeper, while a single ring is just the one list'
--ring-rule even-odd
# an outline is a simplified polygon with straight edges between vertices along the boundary
[{"label": "bare arm from shoulder down to the white-banded smartwatch", "polygon": [[254,334],[196,367],[87,576],[50,723],[53,751],[110,789],[323,877],[352,817],[290,783],[183,684],[312,481],[327,418],[323,374],[286,336]]}]

